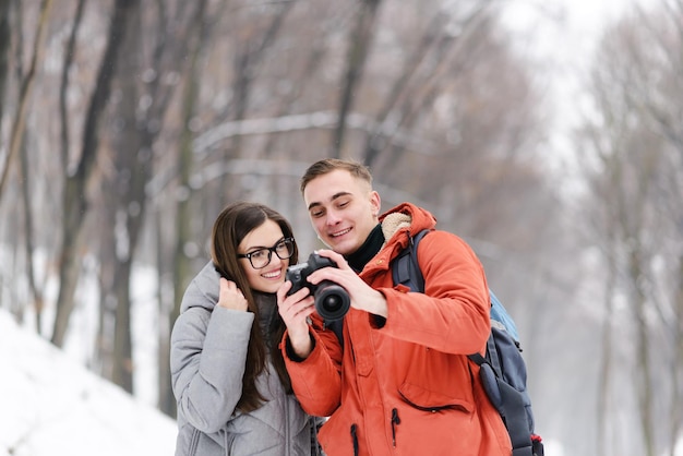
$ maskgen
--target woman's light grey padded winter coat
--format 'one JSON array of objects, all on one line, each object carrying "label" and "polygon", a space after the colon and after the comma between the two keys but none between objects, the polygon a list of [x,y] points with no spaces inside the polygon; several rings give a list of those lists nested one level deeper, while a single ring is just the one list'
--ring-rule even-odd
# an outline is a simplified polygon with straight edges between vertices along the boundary
[{"label": "woman's light grey padded winter coat", "polygon": [[[257,379],[266,401],[249,413],[236,410],[254,314],[215,307],[218,279],[211,262],[194,277],[171,334],[179,431],[176,456],[317,454],[315,420],[303,412],[293,395],[286,394],[271,363]],[[277,303],[275,296],[260,298],[259,310],[264,314],[260,324],[265,332]]]}]

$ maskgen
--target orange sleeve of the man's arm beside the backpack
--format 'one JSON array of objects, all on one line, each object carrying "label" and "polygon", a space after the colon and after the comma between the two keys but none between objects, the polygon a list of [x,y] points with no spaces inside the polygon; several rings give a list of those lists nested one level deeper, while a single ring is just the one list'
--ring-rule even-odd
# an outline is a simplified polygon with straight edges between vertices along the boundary
[{"label": "orange sleeve of the man's arm beside the backpack", "polygon": [[443,352],[480,352],[491,331],[490,298],[475,252],[457,236],[434,231],[420,241],[418,262],[424,293],[379,288],[388,307],[380,331]]}]

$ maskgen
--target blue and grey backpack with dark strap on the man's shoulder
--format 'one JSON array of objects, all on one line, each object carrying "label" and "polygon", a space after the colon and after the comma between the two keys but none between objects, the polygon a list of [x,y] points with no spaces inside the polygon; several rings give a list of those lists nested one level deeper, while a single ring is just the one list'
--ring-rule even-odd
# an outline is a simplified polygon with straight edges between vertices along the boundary
[{"label": "blue and grey backpack with dark strap on the man's shoulder", "polygon": [[[430,230],[410,238],[409,247],[393,261],[394,285],[403,284],[412,291],[424,291],[424,277],[418,263],[418,243]],[[543,456],[541,437],[534,433],[534,413],[527,393],[527,369],[515,322],[501,301],[491,296],[491,335],[487,352],[468,358],[481,369],[483,388],[499,411],[510,434],[513,456]]]}]

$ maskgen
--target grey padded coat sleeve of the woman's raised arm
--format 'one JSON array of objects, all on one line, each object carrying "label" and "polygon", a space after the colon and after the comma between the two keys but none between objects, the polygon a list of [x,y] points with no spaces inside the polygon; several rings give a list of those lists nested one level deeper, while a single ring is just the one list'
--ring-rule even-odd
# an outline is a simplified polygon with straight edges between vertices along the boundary
[{"label": "grey padded coat sleeve of the woman's raised arm", "polygon": [[[206,297],[193,283],[185,299]],[[202,432],[225,425],[242,395],[253,321],[251,312],[191,307],[173,325],[170,370],[178,411]]]}]

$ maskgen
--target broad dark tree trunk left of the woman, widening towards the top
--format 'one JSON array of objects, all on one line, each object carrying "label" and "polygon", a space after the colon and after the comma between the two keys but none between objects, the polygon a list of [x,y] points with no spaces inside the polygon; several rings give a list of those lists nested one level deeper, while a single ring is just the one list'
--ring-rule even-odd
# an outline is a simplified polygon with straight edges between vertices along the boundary
[{"label": "broad dark tree trunk left of the woman, widening towards the top", "polygon": [[[133,387],[133,353],[131,341],[131,272],[133,260],[139,245],[139,239],[146,214],[147,195],[145,188],[153,172],[153,147],[158,133],[161,131],[166,110],[175,92],[176,85],[164,84],[164,75],[176,73],[180,70],[182,60],[175,56],[187,55],[188,39],[194,29],[192,20],[197,16],[188,14],[188,10],[202,9],[200,5],[179,1],[176,17],[166,17],[166,10],[159,10],[158,22],[152,26],[142,24],[140,14],[130,23],[127,34],[127,51],[122,55],[122,69],[119,79],[122,86],[123,99],[120,103],[120,119],[123,134],[115,132],[117,144],[116,164],[118,182],[116,184],[117,214],[124,220],[122,223],[125,232],[124,245],[121,240],[117,241],[117,261],[113,284],[113,295],[117,296],[117,319],[115,331],[115,363],[112,380],[132,392]],[[137,7],[136,13],[141,13]],[[200,14],[201,19],[203,14]],[[172,24],[168,24],[168,22]],[[141,50],[144,48],[145,36],[142,31],[156,32],[153,35],[156,46],[152,53],[152,62],[145,62]],[[123,59],[123,56],[125,58]],[[151,81],[141,84],[137,77],[129,77],[129,74],[140,74],[146,68],[155,70],[156,75]],[[139,100],[148,97],[151,105],[141,108]],[[124,254],[121,254],[124,252]],[[159,373],[159,376],[165,376]],[[130,388],[130,389],[129,389]]]}]

